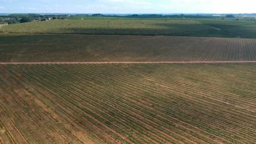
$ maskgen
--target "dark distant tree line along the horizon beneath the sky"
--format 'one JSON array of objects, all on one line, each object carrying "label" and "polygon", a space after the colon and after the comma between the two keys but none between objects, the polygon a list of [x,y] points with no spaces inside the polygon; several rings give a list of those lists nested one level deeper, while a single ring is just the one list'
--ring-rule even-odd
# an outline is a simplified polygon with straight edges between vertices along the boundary
[{"label": "dark distant tree line along the horizon beneath the sky", "polygon": [[[256,13],[251,14],[251,17],[243,17],[242,14],[227,14],[226,18],[235,18],[234,20],[245,20],[245,21],[256,21],[256,19],[253,17],[256,15]],[[16,23],[24,23],[24,22],[30,22],[30,21],[47,21],[47,20],[55,20],[55,19],[85,19],[85,17],[90,16],[104,16],[104,17],[117,17],[117,18],[139,18],[139,19],[155,19],[155,18],[182,18],[182,19],[207,19],[207,18],[213,18],[214,16],[211,15],[202,15],[202,14],[176,14],[176,15],[162,15],[162,14],[131,14],[127,16],[106,16],[101,13],[95,13],[92,15],[89,14],[77,14],[69,16],[68,14],[34,14],[34,13],[28,13],[28,14],[10,14],[8,16],[0,16],[0,24],[16,24]],[[224,20],[224,17],[222,19]],[[240,18],[240,19],[238,19]]]}]

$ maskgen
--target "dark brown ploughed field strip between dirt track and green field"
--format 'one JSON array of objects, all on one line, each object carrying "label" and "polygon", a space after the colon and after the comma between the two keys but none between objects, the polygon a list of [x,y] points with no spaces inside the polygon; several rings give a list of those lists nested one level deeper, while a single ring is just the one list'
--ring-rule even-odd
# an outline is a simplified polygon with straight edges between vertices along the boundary
[{"label": "dark brown ploughed field strip between dirt track and green field", "polygon": [[256,39],[0,35],[0,62],[256,61]]}]

